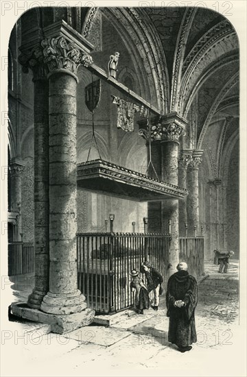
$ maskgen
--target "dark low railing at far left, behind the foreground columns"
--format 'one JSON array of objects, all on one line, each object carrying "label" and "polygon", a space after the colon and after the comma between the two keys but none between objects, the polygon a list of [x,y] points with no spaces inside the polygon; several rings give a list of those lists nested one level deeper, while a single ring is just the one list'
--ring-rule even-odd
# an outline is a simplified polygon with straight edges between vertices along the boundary
[{"label": "dark low railing at far left, behind the foreground columns", "polygon": [[34,272],[34,245],[10,242],[8,244],[8,276]]}]

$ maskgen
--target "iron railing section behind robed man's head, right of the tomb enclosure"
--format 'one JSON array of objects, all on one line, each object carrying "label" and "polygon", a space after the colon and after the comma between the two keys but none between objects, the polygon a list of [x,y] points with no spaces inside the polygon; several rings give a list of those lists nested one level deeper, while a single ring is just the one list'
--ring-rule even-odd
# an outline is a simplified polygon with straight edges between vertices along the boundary
[{"label": "iron railing section behind robed man's head, right of the tomb enclosure", "polygon": [[191,275],[201,276],[204,273],[204,238],[180,237],[179,260],[187,263]]}]

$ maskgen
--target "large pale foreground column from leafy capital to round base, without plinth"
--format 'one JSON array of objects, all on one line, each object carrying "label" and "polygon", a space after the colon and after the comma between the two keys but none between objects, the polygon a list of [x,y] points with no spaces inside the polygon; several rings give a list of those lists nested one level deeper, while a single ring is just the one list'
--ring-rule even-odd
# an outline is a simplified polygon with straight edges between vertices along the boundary
[{"label": "large pale foreground column from leafy capital to round base, without plinth", "polygon": [[76,72],[82,56],[63,37],[47,38],[42,46],[49,68],[49,292],[40,308],[64,316],[86,308],[77,283],[75,236]]}]

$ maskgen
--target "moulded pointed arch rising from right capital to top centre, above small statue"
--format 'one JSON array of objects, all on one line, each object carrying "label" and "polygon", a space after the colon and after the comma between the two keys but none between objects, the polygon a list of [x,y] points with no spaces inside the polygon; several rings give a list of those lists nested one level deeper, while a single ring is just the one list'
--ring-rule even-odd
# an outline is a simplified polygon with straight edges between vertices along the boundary
[{"label": "moulded pointed arch rising from right capital to top centre, above small statue", "polygon": [[[155,98],[158,109],[163,113],[168,112],[169,77],[165,53],[148,14],[141,8],[116,7],[104,8],[104,16],[121,32],[123,42],[130,51],[134,66],[144,83],[144,86],[140,86],[141,95],[149,93],[148,100]],[[93,23],[94,19],[95,14],[92,14],[90,22]],[[86,23],[89,23],[89,14]],[[90,31],[91,26],[87,25],[87,29]],[[86,25],[83,25],[82,30],[86,31]],[[145,68],[145,75],[140,70],[140,60]]]}]

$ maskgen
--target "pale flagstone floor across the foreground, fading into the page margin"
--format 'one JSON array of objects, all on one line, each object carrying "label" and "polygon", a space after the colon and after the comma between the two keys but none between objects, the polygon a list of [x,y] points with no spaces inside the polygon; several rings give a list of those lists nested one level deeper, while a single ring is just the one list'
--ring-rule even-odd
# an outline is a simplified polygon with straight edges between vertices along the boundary
[{"label": "pale flagstone floor across the foreground, fading into the page margin", "polygon": [[[215,267],[211,275],[217,274]],[[9,286],[12,301],[25,301],[32,281],[32,276],[15,278]],[[228,315],[214,302],[198,303],[198,341],[185,354],[167,341],[164,297],[157,312],[123,311],[111,316],[110,326],[93,324],[67,335],[51,334],[48,325],[6,321],[1,376],[246,376],[237,301],[237,296],[234,302],[226,299]]]}]

